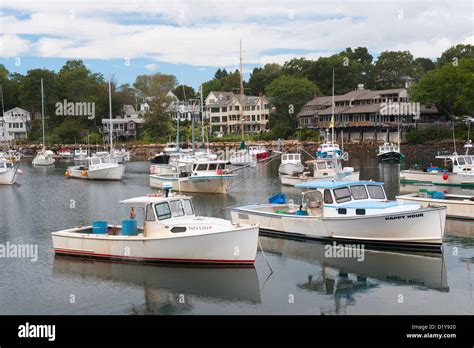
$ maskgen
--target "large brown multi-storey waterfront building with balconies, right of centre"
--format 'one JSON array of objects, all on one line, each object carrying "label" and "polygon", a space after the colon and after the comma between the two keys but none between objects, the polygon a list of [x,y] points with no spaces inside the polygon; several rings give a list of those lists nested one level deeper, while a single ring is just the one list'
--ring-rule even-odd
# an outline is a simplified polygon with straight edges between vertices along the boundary
[{"label": "large brown multi-storey waterfront building with balconies, right of centre", "polygon": [[[433,123],[446,125],[445,118],[436,110],[411,103],[406,88],[368,90],[359,85],[356,90],[334,96],[334,128],[339,137],[358,139],[397,139],[401,132],[415,126],[426,127]],[[315,97],[296,115],[298,128],[320,130],[331,126],[332,96]]]}]

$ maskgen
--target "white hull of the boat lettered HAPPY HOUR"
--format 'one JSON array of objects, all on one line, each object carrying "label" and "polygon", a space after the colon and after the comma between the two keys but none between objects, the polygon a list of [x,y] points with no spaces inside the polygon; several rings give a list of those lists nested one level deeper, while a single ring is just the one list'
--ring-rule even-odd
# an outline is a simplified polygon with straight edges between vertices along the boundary
[{"label": "white hull of the boat lettered HAPPY HOUR", "polygon": [[[286,205],[281,205],[282,208]],[[260,207],[260,208],[257,208]],[[436,248],[442,244],[446,208],[360,217],[323,218],[265,212],[261,206],[234,208],[233,223],[258,223],[261,231],[289,238],[356,241],[407,248]]]}]

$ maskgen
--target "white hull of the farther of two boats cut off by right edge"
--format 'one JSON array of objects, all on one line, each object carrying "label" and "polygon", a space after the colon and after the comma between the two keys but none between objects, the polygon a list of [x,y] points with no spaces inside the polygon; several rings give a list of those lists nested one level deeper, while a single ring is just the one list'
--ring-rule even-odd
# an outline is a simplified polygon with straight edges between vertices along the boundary
[{"label": "white hull of the farther of two boats cut off by right edge", "polygon": [[401,183],[434,184],[442,186],[474,186],[474,174],[433,173],[419,170],[400,172]]}]

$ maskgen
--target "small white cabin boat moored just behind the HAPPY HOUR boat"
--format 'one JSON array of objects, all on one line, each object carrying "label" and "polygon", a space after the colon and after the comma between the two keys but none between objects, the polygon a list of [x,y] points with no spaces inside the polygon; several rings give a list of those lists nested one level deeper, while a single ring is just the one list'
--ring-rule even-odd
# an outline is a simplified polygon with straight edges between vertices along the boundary
[{"label": "small white cabin boat moored just behind the HAPPY HOUR boat", "polygon": [[352,167],[342,167],[338,159],[316,159],[307,161],[313,172],[303,172],[300,175],[280,175],[282,185],[295,186],[312,180],[359,180],[359,172]]}]

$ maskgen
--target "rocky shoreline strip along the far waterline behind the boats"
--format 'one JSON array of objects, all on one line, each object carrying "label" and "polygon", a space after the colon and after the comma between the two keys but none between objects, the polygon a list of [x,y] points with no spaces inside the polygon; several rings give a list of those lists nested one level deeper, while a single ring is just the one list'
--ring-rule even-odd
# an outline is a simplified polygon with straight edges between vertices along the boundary
[{"label": "rocky shoreline strip along the far waterline behind the boats", "polygon": [[[260,141],[260,142],[247,142],[247,145],[263,145],[268,150],[281,150],[283,152],[296,152],[297,147],[301,146],[305,151],[314,154],[321,142],[312,142],[312,141],[296,141],[296,140],[284,140],[281,142],[278,141]],[[381,141],[374,140],[365,140],[365,141],[350,141],[349,143],[344,144],[344,151],[350,153],[352,158],[361,158],[361,157],[375,157],[377,153],[378,146],[382,145]],[[462,140],[457,142],[457,151],[463,152]],[[214,142],[209,144],[209,148],[213,151],[225,151],[233,150],[238,148],[240,145],[239,142]],[[147,158],[155,155],[156,153],[161,152],[166,144],[133,144],[125,145],[130,151],[131,155],[138,160],[146,160]],[[198,145],[197,145],[198,146]],[[53,151],[59,150],[61,147],[68,147],[71,150],[78,148],[87,148],[84,144],[77,145],[53,145],[49,147]],[[188,146],[190,147],[190,146]],[[31,144],[31,145],[18,145],[14,146],[14,149],[22,149],[26,154],[34,154],[37,150],[41,148],[40,144]],[[103,149],[101,145],[90,145],[89,149],[91,152],[95,152]],[[407,159],[416,159],[416,158],[430,158],[436,155],[438,151],[454,151],[454,146],[452,141],[440,141],[436,143],[426,143],[426,144],[402,144],[401,151],[407,157]]]}]

